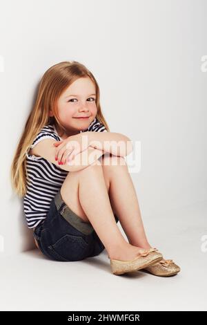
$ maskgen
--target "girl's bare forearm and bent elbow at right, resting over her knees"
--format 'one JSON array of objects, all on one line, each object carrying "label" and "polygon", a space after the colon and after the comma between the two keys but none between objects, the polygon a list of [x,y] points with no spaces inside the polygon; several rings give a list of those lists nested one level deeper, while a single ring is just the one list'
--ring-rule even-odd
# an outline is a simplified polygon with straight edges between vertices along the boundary
[{"label": "girl's bare forearm and bent elbow at right, resting over her knees", "polygon": [[91,132],[88,133],[90,147],[109,152],[115,156],[128,156],[133,151],[132,141],[124,134],[116,132]]}]

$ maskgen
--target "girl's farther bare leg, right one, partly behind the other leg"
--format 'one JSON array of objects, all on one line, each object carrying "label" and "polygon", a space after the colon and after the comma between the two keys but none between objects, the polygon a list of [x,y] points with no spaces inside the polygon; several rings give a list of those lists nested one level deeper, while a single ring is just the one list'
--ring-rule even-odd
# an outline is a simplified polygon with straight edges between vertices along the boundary
[{"label": "girl's farther bare leg, right one, partly behind the other leg", "polygon": [[[109,183],[109,198],[113,212],[117,214],[129,243],[148,249],[135,187],[123,157],[102,156],[103,174]],[[115,165],[112,165],[115,164]]]}]

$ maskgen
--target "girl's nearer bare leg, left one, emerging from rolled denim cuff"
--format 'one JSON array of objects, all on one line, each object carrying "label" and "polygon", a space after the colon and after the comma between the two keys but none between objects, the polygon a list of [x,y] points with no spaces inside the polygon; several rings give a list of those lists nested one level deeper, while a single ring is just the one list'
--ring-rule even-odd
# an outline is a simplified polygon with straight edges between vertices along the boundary
[{"label": "girl's nearer bare leg, left one, emerging from rolled denim cuff", "polygon": [[[72,209],[75,210],[71,203],[75,201],[71,200],[70,193],[67,191],[67,182],[70,183],[70,191],[72,191],[71,176],[73,182],[78,182],[76,211],[83,212],[84,221],[87,220],[92,224],[93,228],[97,232],[99,239],[101,239],[105,246],[110,259],[130,260],[139,255],[140,252],[144,252],[143,248],[130,245],[122,236],[115,216],[112,212],[110,200],[108,197],[108,188],[103,176],[103,168],[99,160],[97,163],[81,169],[79,171],[73,171],[73,175],[68,177],[68,180],[64,182],[64,187],[61,187],[61,196],[63,201]],[[70,179],[70,181],[69,181]],[[78,206],[79,204],[79,206]],[[82,217],[81,214],[79,214]]]}]

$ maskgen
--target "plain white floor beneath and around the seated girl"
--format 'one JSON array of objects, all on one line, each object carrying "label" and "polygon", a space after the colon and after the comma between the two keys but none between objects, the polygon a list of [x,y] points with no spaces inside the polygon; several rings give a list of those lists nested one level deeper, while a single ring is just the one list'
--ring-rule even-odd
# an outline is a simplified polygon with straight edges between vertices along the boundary
[{"label": "plain white floor beneath and around the seated girl", "polygon": [[106,250],[79,262],[50,261],[37,249],[5,257],[0,309],[207,310],[207,252],[201,250],[206,216],[207,202],[201,202],[144,220],[152,245],[181,266],[170,278],[112,275]]}]

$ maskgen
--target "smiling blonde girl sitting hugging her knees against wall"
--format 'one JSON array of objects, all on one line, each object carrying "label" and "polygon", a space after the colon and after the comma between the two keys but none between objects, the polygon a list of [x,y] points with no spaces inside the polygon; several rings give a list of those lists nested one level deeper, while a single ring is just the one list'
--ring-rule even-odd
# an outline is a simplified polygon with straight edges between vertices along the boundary
[{"label": "smiling blonde girl sitting hugging her knees against wall", "polygon": [[55,261],[79,261],[106,248],[112,274],[175,275],[179,266],[146,238],[124,159],[132,142],[110,132],[99,97],[95,77],[79,62],[44,73],[11,167],[28,228]]}]

